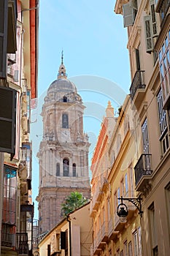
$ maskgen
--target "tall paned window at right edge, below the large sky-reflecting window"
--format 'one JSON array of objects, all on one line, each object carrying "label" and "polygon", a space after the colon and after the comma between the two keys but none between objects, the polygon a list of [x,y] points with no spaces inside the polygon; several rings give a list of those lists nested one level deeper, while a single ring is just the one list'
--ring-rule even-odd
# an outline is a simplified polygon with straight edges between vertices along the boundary
[{"label": "tall paned window at right edge, below the large sky-reflecting window", "polygon": [[159,127],[160,127],[160,141],[163,154],[166,153],[169,148],[169,135],[168,135],[168,127],[166,122],[166,110],[163,110],[163,95],[162,89],[159,91],[157,95],[158,102],[158,118],[159,118]]}]

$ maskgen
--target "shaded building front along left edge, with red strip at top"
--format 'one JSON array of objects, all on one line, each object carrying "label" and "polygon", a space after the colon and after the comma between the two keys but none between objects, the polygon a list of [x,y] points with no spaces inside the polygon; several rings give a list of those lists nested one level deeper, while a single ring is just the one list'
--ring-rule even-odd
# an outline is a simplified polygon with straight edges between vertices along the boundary
[{"label": "shaded building front along left edge, with red strip at top", "polygon": [[1,255],[32,255],[29,124],[31,99],[37,97],[37,4],[35,0],[0,4]]}]

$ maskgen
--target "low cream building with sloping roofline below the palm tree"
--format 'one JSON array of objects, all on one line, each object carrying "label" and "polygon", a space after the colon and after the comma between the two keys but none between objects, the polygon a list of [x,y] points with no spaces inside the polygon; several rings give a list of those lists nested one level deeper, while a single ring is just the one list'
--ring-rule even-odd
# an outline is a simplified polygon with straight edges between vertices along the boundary
[{"label": "low cream building with sloping roofline below the palm tree", "polygon": [[53,227],[39,242],[39,255],[89,256],[93,233],[89,205],[86,203]]}]

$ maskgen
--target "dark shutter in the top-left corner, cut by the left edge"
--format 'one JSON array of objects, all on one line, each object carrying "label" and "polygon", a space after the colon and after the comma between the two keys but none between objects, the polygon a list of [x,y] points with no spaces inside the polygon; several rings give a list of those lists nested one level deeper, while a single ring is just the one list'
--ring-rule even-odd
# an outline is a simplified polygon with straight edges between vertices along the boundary
[{"label": "dark shutter in the top-left corner, cut by the left edge", "polygon": [[0,1],[0,78],[7,77],[8,1]]}]

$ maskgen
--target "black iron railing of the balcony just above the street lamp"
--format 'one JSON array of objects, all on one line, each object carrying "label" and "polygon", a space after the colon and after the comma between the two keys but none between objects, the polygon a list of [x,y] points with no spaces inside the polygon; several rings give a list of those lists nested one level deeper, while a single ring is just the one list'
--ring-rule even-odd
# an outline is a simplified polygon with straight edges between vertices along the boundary
[{"label": "black iron railing of the balcony just above the street lamp", "polygon": [[151,157],[151,154],[142,154],[138,162],[136,163],[134,167],[136,186],[139,184],[139,181],[142,179],[143,176],[151,176]]}]

